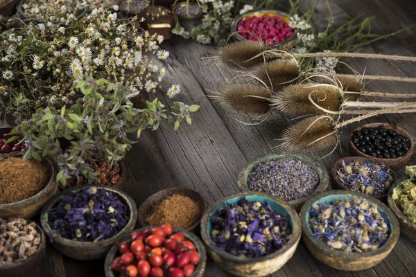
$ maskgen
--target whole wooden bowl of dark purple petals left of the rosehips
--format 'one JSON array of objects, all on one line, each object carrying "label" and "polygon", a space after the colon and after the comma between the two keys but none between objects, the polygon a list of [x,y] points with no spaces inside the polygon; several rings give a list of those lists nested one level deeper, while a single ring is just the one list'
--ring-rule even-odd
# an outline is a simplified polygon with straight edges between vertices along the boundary
[{"label": "whole wooden bowl of dark purple petals left of the rosehips", "polygon": [[49,200],[40,215],[52,246],[76,260],[104,258],[136,221],[135,201],[109,186],[68,188]]}]

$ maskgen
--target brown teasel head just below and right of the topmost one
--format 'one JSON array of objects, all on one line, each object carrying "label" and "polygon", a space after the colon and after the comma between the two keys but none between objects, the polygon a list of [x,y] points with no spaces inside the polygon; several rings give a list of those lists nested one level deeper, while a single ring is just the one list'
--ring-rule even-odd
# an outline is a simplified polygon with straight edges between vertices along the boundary
[{"label": "brown teasel head just below and right of the topmost one", "polygon": [[[273,91],[279,91],[282,87],[296,82],[300,75],[300,66],[295,60],[272,60],[253,66],[250,72],[262,80]],[[254,80],[255,84],[260,84]]]}]

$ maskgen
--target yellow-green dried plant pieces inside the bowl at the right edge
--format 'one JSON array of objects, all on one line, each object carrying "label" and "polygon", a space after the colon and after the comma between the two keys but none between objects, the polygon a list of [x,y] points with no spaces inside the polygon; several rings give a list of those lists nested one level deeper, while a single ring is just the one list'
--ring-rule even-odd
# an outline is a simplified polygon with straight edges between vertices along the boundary
[{"label": "yellow-green dried plant pieces inside the bowl at the right edge", "polygon": [[393,189],[392,199],[395,199],[401,213],[416,223],[416,184],[405,181]]}]

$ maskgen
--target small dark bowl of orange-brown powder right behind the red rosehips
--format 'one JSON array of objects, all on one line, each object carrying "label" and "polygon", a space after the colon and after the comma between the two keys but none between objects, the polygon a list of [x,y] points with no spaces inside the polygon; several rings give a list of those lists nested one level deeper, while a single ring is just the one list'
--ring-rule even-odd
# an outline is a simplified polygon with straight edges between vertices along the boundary
[{"label": "small dark bowl of orange-brown powder right behind the red rosehips", "polygon": [[198,233],[206,208],[207,200],[198,191],[185,187],[166,188],[139,206],[137,220],[142,227],[168,223]]}]

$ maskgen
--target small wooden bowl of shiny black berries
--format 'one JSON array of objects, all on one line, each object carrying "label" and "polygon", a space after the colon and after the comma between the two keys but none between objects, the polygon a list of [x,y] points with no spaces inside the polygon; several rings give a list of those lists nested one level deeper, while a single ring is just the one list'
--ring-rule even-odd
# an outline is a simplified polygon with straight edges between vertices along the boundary
[{"label": "small wooden bowl of shiny black berries", "polygon": [[349,137],[349,154],[384,163],[390,168],[406,164],[414,146],[413,137],[408,132],[389,123],[365,124]]}]

